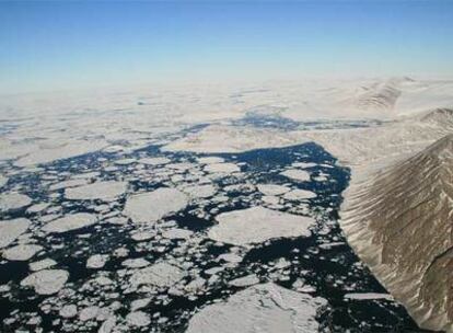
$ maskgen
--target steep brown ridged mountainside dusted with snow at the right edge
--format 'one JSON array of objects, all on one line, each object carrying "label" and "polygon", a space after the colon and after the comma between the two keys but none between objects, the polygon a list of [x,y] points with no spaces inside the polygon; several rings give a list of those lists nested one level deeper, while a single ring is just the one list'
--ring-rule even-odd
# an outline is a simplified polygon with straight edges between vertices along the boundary
[{"label": "steep brown ridged mountainside dusted with snow at the right edge", "polygon": [[453,332],[453,135],[364,179],[342,207],[350,244],[421,328]]}]

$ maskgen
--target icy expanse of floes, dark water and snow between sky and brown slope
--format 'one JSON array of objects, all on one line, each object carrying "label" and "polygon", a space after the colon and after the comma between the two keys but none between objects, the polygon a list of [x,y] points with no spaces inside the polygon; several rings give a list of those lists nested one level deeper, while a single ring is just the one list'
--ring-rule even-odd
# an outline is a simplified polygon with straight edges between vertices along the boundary
[{"label": "icy expanse of floes, dark water and snow between sky and brown slope", "polygon": [[452,105],[409,78],[5,96],[2,324],[417,330],[340,232],[344,166],[355,187],[419,151]]}]

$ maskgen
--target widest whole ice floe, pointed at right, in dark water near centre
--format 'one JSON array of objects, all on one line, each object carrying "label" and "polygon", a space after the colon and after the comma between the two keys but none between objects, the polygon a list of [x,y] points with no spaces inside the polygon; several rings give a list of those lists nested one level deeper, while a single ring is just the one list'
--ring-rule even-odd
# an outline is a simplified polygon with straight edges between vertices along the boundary
[{"label": "widest whole ice floe, pointed at right, in dark water near centre", "polygon": [[236,245],[259,243],[275,238],[310,236],[310,217],[291,215],[264,207],[222,213],[209,238]]}]

